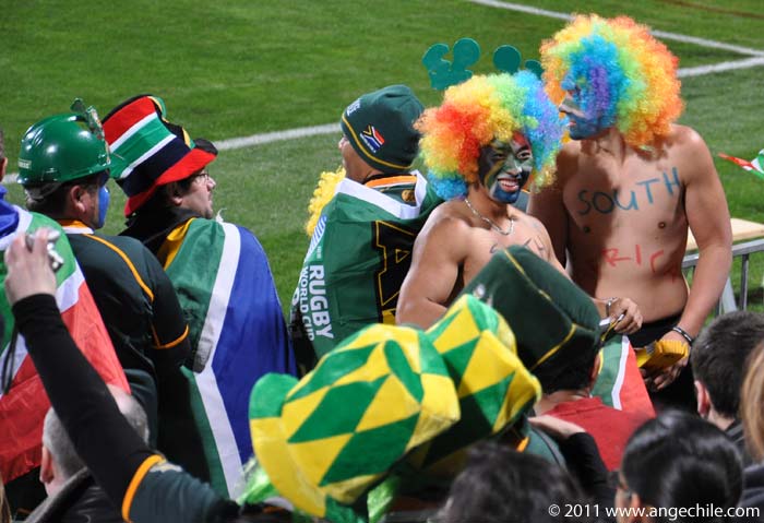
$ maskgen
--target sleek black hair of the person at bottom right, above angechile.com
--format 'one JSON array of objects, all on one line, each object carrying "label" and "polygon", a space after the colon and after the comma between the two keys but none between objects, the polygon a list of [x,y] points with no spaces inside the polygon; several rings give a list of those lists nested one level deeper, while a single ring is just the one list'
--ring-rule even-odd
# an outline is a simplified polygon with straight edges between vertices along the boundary
[{"label": "sleek black hair of the person at bottom right, above angechile.com", "polygon": [[[643,504],[656,509],[736,507],[742,491],[735,443],[715,425],[678,411],[636,429],[623,451],[621,474]],[[669,516],[656,519],[664,521]]]}]

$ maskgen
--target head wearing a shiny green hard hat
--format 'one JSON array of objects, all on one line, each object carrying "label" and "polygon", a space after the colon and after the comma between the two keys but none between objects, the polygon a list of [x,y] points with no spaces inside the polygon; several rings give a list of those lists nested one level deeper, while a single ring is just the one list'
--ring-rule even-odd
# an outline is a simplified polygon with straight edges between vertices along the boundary
[{"label": "head wearing a shiny green hard hat", "polygon": [[21,143],[19,181],[31,211],[97,229],[109,206],[108,146],[95,109],[77,100],[72,110],[29,127]]}]

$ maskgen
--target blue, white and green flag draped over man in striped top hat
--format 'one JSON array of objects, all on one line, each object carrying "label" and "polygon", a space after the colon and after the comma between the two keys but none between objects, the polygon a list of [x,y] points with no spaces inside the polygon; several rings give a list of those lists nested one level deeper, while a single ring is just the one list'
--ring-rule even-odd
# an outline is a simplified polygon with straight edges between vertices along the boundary
[{"label": "blue, white and green flag draped over man in striped top hat", "polygon": [[252,455],[249,395],[267,372],[295,375],[295,359],[265,252],[249,230],[193,218],[159,250],[194,347],[192,408],[213,487],[235,497]]}]

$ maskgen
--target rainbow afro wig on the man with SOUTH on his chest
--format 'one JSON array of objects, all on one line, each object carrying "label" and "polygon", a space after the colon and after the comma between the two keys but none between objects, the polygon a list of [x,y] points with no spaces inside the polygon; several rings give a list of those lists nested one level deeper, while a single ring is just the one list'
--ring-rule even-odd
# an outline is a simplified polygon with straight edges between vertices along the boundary
[{"label": "rainbow afro wig on the man with SOUTH on his chest", "polygon": [[682,112],[679,60],[632,19],[577,15],[541,45],[549,97],[560,104],[581,90],[581,109],[598,115],[633,147],[647,147],[669,133]]}]

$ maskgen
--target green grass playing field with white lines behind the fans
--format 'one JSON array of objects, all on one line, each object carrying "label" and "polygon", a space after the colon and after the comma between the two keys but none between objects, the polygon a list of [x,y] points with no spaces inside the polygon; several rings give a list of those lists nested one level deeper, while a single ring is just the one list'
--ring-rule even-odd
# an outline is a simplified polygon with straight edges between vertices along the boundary
[{"label": "green grass playing field with white lines behind the fans", "polygon": [[[760,0],[523,1],[558,12],[629,14],[655,29],[764,50]],[[34,121],[65,111],[75,96],[105,116],[121,100],[152,93],[192,136],[214,141],[336,122],[359,94],[406,83],[426,105],[439,102],[420,64],[438,41],[477,39],[491,71],[501,44],[536,58],[563,21],[457,0],[242,2],[193,0],[3,2],[0,36],[0,127],[15,170],[19,144]],[[665,40],[682,68],[747,58]],[[681,122],[711,151],[752,158],[764,147],[760,118],[764,67],[683,80]],[[318,175],[339,165],[336,135],[223,152],[211,173],[216,209],[250,227],[263,243],[286,305],[308,245],[301,231]],[[764,186],[717,161],[733,216],[763,222]],[[112,191],[105,231],[121,230],[121,191]],[[17,187],[14,203],[22,203]],[[762,305],[764,257],[752,259],[751,299]]]}]

